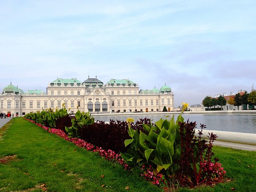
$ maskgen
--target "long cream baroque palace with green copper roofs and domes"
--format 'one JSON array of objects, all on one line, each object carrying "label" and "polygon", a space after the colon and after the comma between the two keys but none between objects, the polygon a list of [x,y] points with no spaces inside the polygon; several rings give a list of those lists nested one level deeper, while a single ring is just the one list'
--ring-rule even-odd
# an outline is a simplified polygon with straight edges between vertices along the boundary
[{"label": "long cream baroque palace with green copper roofs and domes", "polygon": [[48,84],[46,93],[42,90],[24,93],[12,83],[6,86],[0,94],[0,113],[24,116],[47,108],[60,109],[63,103],[70,113],[78,109],[90,113],[159,112],[164,106],[173,111],[173,96],[166,84],[160,90],[139,90],[139,85],[129,79],[111,79],[104,85],[97,76],[88,76],[84,82],[57,78]]}]

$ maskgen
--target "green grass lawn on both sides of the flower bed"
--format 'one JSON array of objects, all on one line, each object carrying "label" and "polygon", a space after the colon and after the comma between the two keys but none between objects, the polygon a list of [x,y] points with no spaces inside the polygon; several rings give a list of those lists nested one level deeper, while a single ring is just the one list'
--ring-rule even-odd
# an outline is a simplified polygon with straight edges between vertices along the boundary
[{"label": "green grass lawn on both sides of the flower bed", "polygon": [[[256,152],[214,147],[232,181],[180,192],[256,191]],[[129,189],[128,189],[129,188]],[[160,192],[123,167],[108,162],[17,117],[0,129],[0,191]]]}]

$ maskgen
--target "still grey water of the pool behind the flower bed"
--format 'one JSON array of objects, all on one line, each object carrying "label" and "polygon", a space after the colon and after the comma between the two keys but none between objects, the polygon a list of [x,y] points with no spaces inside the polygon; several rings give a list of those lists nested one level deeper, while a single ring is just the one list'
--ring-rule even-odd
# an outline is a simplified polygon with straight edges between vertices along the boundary
[{"label": "still grey water of the pool behind the flower bed", "polygon": [[[172,114],[170,114],[172,116]],[[178,114],[175,114],[175,120]],[[256,115],[255,114],[183,114],[184,120],[196,121],[197,129],[200,129],[200,124],[206,125],[206,130],[230,131],[240,133],[256,133]],[[94,116],[95,120],[109,121],[124,120],[128,117],[135,121],[140,118],[150,118],[154,123],[160,118],[166,119],[166,114],[127,114],[116,116]],[[168,117],[169,118],[169,117]]]}]

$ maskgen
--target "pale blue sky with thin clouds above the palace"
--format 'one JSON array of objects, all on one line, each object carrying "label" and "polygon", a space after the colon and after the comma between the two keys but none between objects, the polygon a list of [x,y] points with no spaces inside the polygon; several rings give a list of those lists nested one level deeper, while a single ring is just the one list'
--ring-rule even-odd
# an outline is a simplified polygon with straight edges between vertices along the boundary
[{"label": "pale blue sky with thin clouds above the palace", "polygon": [[[174,105],[251,91],[255,0],[0,0],[0,91],[57,78],[169,86]],[[255,87],[254,87],[255,88]]]}]

